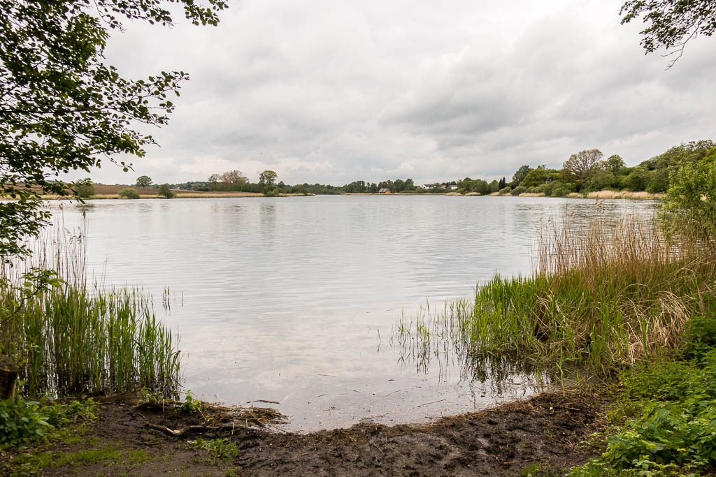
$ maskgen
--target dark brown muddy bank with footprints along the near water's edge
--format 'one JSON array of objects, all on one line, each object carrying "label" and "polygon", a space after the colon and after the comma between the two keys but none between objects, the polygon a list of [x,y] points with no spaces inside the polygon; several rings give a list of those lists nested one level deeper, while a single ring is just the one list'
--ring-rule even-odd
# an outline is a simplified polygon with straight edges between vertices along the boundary
[{"label": "dark brown muddy bank with footprints along the near water's edge", "polygon": [[[221,412],[186,415],[111,400],[101,405],[97,422],[62,443],[35,449],[34,455],[44,456],[36,467],[47,476],[513,476],[537,467],[558,473],[594,456],[580,442],[601,430],[605,405],[606,399],[594,393],[544,393],[429,424],[361,423],[297,434],[244,427]],[[264,419],[274,426],[270,415]],[[180,437],[160,430],[188,426],[204,428]],[[206,451],[190,448],[198,438],[226,438],[238,452],[224,460],[209,458]],[[72,458],[89,451],[100,451],[99,457]],[[5,453],[0,465],[12,475],[30,470],[32,465],[21,465],[27,461],[32,459],[22,452]]]}]

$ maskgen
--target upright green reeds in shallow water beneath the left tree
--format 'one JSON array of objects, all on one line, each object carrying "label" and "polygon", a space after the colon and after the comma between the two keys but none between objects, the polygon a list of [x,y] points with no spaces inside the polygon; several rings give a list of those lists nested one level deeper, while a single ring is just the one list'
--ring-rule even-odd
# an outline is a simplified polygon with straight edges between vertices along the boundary
[{"label": "upright green reeds in shallow water beneath the left tree", "polygon": [[[64,226],[34,243],[32,257],[0,267],[0,352],[20,365],[24,395],[122,393],[137,386],[175,395],[178,338],[142,290],[89,282],[86,230]],[[37,287],[26,275],[54,270],[63,282]],[[25,290],[25,291],[23,291]]]}]

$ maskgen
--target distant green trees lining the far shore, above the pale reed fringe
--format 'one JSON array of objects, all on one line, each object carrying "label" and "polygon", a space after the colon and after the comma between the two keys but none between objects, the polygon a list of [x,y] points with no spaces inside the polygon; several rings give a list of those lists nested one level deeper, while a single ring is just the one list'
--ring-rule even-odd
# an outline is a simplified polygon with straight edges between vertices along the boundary
[{"label": "distant green trees lining the far shore, above the pale reed fringe", "polygon": [[[271,170],[261,172],[258,182],[250,182],[246,174],[238,169],[222,174],[211,174],[205,181],[190,181],[183,184],[170,184],[170,189],[196,190],[204,192],[256,192],[264,195],[279,194],[375,194],[391,193],[444,193],[446,190],[467,194],[477,193],[490,195],[494,193],[519,195],[523,192],[544,194],[551,197],[563,197],[571,192],[596,192],[599,190],[629,190],[632,192],[666,192],[669,188],[669,174],[677,164],[697,162],[714,149],[716,143],[702,140],[679,144],[666,152],[647,159],[636,166],[627,167],[618,154],[604,158],[599,149],[585,149],[572,154],[563,162],[561,169],[551,169],[546,164],[532,167],[524,164],[508,181],[507,177],[500,180],[471,179],[436,182],[433,184],[416,185],[408,179],[385,180],[382,182],[365,182],[357,180],[343,186],[324,184],[287,185],[283,181],[276,182],[278,174]],[[137,187],[154,187],[150,177],[137,178]]]}]

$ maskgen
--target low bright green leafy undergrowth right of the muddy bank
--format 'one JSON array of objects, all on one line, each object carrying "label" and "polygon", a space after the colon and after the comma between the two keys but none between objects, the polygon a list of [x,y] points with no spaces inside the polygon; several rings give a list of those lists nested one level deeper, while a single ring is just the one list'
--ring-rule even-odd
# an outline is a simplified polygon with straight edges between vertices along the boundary
[{"label": "low bright green leafy undergrowth right of the muddy bank", "polygon": [[681,475],[716,467],[716,319],[692,318],[684,349],[694,359],[627,372],[614,415],[629,419],[597,459],[572,476]]}]

